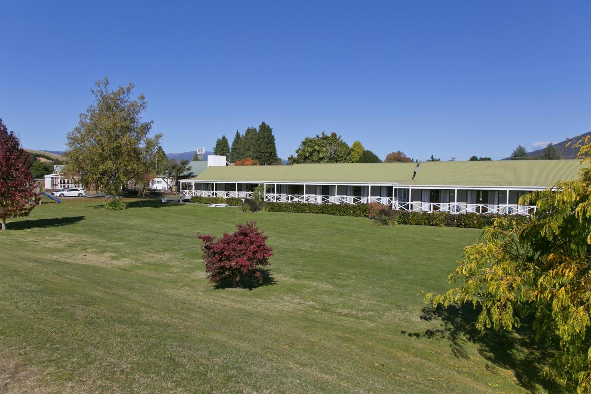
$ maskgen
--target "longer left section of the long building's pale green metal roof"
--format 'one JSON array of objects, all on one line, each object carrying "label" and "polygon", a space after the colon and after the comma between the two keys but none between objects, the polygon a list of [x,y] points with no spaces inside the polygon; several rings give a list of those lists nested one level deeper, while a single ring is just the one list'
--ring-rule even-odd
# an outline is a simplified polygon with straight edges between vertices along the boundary
[{"label": "longer left section of the long building's pale green metal roof", "polygon": [[260,182],[408,183],[415,163],[294,164],[208,167],[193,180]]}]

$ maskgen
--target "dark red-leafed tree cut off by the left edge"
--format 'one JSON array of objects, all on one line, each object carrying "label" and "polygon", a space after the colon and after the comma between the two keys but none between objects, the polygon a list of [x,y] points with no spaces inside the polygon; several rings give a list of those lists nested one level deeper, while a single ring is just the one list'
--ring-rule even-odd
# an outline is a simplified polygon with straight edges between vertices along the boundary
[{"label": "dark red-leafed tree cut off by the left edge", "polygon": [[35,179],[29,166],[31,158],[20,147],[14,132],[8,133],[0,119],[0,218],[2,230],[6,219],[28,216],[38,202]]}]

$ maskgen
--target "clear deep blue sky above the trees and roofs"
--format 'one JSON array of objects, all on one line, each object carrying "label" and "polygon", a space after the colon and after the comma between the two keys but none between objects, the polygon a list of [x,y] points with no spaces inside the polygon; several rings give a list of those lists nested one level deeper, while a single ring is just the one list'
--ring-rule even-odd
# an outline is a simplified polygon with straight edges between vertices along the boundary
[{"label": "clear deep blue sky above the trees and roofs", "polygon": [[335,131],[384,159],[561,141],[591,126],[591,2],[0,5],[0,118],[63,150],[93,82],[133,82],[169,153],[265,121],[286,158]]}]

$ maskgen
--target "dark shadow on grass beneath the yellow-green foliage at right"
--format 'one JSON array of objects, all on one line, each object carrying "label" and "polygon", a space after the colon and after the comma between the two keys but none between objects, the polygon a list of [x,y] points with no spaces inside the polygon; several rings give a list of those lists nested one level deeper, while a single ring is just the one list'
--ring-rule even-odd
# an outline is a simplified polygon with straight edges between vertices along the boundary
[{"label": "dark shadow on grass beneath the yellow-green foliage at right", "polygon": [[486,364],[486,369],[492,372],[495,367],[511,370],[517,383],[531,392],[538,390],[537,385],[549,392],[565,392],[564,387],[541,376],[548,360],[556,354],[557,345],[535,341],[532,317],[522,318],[521,327],[512,331],[491,329],[481,333],[475,328],[479,313],[480,309],[474,309],[472,305],[450,305],[448,308],[426,306],[421,311],[421,320],[440,321],[439,327],[423,332],[401,331],[401,334],[449,341],[452,354],[459,359],[469,357],[464,345],[469,341],[476,344],[480,356],[491,363]]}]

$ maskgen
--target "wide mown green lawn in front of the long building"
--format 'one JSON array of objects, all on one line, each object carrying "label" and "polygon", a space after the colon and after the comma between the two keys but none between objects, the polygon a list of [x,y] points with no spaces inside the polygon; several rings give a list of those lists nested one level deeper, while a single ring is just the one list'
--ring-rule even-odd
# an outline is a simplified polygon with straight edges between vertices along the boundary
[{"label": "wide mown green lawn in front of the long building", "polygon": [[[49,200],[47,200],[49,201]],[[480,336],[421,290],[479,230],[102,199],[45,203],[0,233],[0,392],[527,392],[544,350]],[[215,289],[198,231],[255,220],[272,281]]]}]

